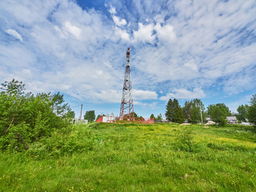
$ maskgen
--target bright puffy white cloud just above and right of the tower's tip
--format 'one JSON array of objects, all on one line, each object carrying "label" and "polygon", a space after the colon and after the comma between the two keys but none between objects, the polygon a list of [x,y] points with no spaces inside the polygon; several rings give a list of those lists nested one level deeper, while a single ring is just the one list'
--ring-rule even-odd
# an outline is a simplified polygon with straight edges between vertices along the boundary
[{"label": "bright puffy white cloud just above and right of the tower's tip", "polygon": [[138,30],[134,30],[134,41],[141,42],[153,42],[155,35],[153,34],[154,25],[143,25],[141,22],[138,22]]}]

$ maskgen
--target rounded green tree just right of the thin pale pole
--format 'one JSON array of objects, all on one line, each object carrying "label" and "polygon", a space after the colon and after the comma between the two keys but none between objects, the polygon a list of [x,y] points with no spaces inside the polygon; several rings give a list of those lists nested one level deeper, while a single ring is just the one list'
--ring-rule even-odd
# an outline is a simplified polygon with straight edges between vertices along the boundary
[{"label": "rounded green tree just right of the thin pale pole", "polygon": [[221,126],[226,125],[226,117],[231,115],[229,108],[224,103],[210,105],[207,110],[210,118]]}]

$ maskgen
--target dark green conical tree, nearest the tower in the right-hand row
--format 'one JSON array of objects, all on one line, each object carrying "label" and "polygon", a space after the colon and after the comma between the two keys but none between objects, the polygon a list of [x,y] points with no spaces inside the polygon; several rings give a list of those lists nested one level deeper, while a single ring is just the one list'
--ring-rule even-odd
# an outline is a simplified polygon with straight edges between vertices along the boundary
[{"label": "dark green conical tree, nearest the tower in the right-hand row", "polygon": [[182,108],[178,105],[178,100],[174,98],[174,101],[169,100],[166,105],[166,118],[171,122],[182,123],[185,121],[185,117]]}]

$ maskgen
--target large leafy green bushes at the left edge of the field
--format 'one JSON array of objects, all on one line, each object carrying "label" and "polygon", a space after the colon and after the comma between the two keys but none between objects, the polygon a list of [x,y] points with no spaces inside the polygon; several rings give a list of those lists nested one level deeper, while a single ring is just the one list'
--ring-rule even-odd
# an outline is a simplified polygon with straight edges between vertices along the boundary
[{"label": "large leafy green bushes at the left edge of the field", "polygon": [[67,126],[70,107],[61,94],[25,94],[25,85],[2,83],[0,94],[0,150],[28,150],[30,144],[50,136],[51,131]]}]

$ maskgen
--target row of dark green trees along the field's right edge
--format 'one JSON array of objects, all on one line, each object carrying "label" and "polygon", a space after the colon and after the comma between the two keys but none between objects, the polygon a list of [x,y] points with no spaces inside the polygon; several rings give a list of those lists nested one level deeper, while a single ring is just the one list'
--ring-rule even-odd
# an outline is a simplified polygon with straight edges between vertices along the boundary
[{"label": "row of dark green trees along the field's right edge", "polygon": [[166,104],[166,119],[170,122],[198,123],[205,122],[206,117],[219,125],[226,125],[226,117],[234,115],[238,122],[254,122],[256,124],[256,94],[250,99],[250,106],[238,106],[238,113],[231,114],[228,106],[224,103],[217,103],[207,106],[207,110],[200,99],[186,101],[184,106],[178,104],[178,100],[170,98]]}]

